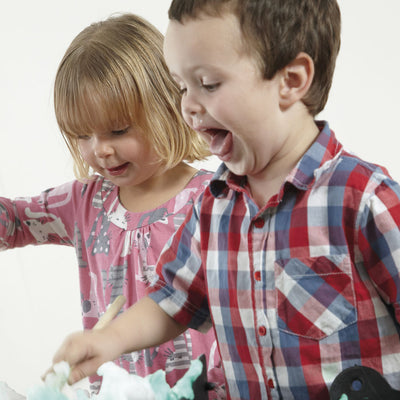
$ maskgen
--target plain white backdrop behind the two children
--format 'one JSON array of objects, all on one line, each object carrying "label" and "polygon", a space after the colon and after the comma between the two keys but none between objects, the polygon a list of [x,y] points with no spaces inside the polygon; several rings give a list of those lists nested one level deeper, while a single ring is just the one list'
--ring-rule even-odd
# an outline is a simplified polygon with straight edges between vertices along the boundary
[{"label": "plain white backdrop behind the two children", "polygon": [[[321,119],[348,149],[400,180],[399,0],[339,0],[342,48]],[[0,25],[0,196],[34,195],[73,179],[52,104],[58,63],[88,24],[119,11],[162,32],[169,0],[8,1]],[[204,166],[215,169],[216,160]],[[0,254],[0,381],[21,393],[38,382],[53,352],[81,329],[72,248],[27,247]]]}]

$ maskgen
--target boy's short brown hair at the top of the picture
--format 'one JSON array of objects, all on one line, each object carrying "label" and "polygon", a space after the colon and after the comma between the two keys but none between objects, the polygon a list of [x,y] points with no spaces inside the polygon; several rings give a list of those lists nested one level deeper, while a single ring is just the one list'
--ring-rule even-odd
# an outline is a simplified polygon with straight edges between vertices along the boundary
[{"label": "boy's short brown hair at the top of the picture", "polygon": [[264,79],[288,65],[300,52],[314,61],[313,83],[302,99],[311,115],[328,100],[340,48],[341,18],[336,0],[173,0],[171,20],[201,14],[218,17],[233,13],[239,20],[243,48],[250,49]]}]

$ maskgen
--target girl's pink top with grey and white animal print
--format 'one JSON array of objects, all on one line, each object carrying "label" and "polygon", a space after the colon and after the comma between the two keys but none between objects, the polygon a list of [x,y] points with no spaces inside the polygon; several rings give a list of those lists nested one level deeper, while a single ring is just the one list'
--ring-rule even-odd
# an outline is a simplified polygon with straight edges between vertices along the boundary
[{"label": "girl's pink top with grey and white animal print", "polygon": [[[125,295],[126,309],[145,295],[161,250],[211,176],[198,171],[176,197],[140,213],[127,211],[119,201],[118,187],[101,176],[86,183],[72,181],[37,197],[0,197],[0,250],[29,244],[74,246],[83,326],[90,329],[117,296]],[[124,354],[116,363],[141,376],[163,369],[174,385],[190,361],[203,353],[208,380],[223,385],[212,330],[207,334],[187,330],[159,347]],[[91,382],[92,390],[98,390],[100,378],[92,377]],[[218,390],[210,398],[220,398]]]}]

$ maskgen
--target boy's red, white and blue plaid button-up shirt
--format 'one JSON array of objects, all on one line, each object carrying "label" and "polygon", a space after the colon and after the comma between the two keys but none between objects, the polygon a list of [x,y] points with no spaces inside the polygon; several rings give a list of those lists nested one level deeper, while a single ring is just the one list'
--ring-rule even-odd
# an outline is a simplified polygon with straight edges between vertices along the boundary
[{"label": "boy's red, white and blue plaid button-up shirt", "polygon": [[261,210],[222,165],[159,261],[150,296],[214,325],[232,399],[328,399],[355,364],[400,389],[400,187],[319,126]]}]

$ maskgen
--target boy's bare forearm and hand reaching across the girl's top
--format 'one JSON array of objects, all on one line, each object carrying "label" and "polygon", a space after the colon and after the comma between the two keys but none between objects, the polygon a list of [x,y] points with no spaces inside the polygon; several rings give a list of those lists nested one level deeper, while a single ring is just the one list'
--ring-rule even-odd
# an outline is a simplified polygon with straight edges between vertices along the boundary
[{"label": "boy's bare forearm and hand reaching across the girl's top", "polygon": [[144,297],[108,326],[68,336],[53,362],[67,361],[71,366],[69,383],[93,375],[106,361],[123,353],[160,345],[184,332],[180,325],[149,297]]}]

